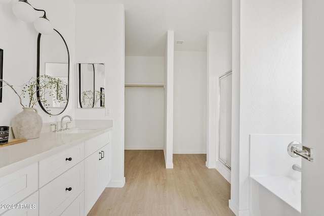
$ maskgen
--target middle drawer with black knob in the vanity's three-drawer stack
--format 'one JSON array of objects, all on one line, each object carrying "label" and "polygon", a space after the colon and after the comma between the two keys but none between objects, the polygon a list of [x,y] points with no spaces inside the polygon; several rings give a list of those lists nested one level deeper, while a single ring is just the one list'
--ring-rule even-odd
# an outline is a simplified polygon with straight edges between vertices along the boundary
[{"label": "middle drawer with black knob in the vanity's three-drawer stack", "polygon": [[60,215],[84,191],[84,161],[39,190],[39,215]]}]

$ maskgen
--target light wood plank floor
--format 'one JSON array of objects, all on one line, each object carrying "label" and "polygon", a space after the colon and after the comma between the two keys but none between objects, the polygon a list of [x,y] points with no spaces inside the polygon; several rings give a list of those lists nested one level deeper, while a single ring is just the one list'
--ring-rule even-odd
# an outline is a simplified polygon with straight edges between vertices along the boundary
[{"label": "light wood plank floor", "polygon": [[162,150],[126,150],[123,188],[106,188],[88,215],[234,215],[230,184],[205,166],[206,154],[174,154],[165,169]]}]

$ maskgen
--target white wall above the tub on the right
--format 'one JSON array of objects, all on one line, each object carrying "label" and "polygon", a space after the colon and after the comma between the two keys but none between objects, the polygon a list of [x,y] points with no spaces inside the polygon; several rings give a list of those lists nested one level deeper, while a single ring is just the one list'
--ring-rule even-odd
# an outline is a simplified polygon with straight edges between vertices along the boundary
[{"label": "white wall above the tub on the right", "polygon": [[240,25],[233,25],[233,32],[240,29],[233,38],[240,43],[233,49],[235,57],[240,50],[240,117],[239,145],[232,143],[232,157],[239,160],[232,167],[239,164],[239,170],[232,169],[230,207],[239,215],[249,213],[250,134],[301,133],[301,2],[233,2],[235,10],[240,5]]}]

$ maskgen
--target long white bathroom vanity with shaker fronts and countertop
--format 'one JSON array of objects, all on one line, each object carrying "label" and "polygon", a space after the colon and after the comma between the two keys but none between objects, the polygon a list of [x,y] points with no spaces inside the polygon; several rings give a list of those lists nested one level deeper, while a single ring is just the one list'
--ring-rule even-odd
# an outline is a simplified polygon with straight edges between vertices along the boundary
[{"label": "long white bathroom vanity with shaker fronts and countertop", "polygon": [[112,120],[0,147],[0,215],[87,215],[110,181]]}]

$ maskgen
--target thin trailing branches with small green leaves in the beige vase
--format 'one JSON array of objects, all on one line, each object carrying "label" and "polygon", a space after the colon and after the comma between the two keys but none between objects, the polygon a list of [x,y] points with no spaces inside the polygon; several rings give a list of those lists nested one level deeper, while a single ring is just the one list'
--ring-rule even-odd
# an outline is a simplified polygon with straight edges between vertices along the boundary
[{"label": "thin trailing branches with small green leaves in the beige vase", "polygon": [[[65,100],[65,83],[61,79],[56,77],[51,77],[48,75],[41,75],[37,78],[32,77],[27,83],[22,86],[22,92],[20,94],[15,90],[13,85],[9,84],[7,81],[0,79],[0,82],[5,83],[15,92],[22,107],[33,107],[37,103],[37,101],[41,101],[46,109],[50,111],[50,104],[48,103],[45,95],[53,97],[53,100],[56,102]],[[23,104],[22,98],[28,99],[26,105]]]}]

